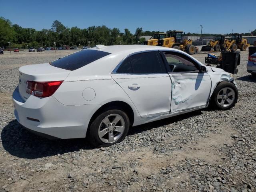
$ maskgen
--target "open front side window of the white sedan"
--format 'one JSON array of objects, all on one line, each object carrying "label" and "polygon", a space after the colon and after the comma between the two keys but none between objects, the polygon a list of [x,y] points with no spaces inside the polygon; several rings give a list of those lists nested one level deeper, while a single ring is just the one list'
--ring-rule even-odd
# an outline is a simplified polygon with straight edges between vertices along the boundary
[{"label": "open front side window of the white sedan", "polygon": [[199,72],[198,66],[190,58],[182,54],[164,52],[164,56],[171,72]]}]

